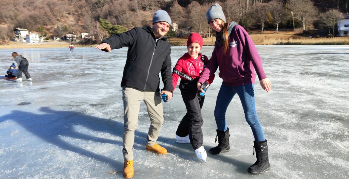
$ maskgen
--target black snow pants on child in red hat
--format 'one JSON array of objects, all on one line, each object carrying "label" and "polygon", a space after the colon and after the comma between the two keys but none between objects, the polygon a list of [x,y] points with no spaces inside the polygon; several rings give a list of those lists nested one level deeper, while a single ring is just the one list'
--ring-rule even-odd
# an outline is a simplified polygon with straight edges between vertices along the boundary
[{"label": "black snow pants on child in red hat", "polygon": [[187,113],[179,123],[176,134],[180,137],[185,137],[189,134],[190,143],[194,150],[200,148],[203,145],[203,134],[201,126],[203,125],[201,108],[205,96],[198,94],[196,88],[196,82],[181,80],[179,84],[180,93],[183,98],[183,102],[187,109]]}]

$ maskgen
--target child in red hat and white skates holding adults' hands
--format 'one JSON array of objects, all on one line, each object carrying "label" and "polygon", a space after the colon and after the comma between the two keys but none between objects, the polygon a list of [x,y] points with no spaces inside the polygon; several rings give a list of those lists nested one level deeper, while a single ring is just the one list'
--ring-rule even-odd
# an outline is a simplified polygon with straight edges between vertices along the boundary
[{"label": "child in red hat and white skates holding adults' hands", "polygon": [[[202,48],[202,37],[199,33],[191,33],[187,40],[188,52],[177,61],[173,68],[172,85],[173,91],[176,88],[178,78],[181,78],[179,89],[187,113],[181,120],[177,131],[176,139],[178,143],[191,143],[196,156],[206,163],[206,150],[203,147],[203,134],[201,126],[203,124],[201,108],[205,100],[205,93],[200,93],[196,87],[198,77],[208,62],[205,55],[200,53]],[[213,82],[212,75],[202,88],[207,90],[209,84]]]}]

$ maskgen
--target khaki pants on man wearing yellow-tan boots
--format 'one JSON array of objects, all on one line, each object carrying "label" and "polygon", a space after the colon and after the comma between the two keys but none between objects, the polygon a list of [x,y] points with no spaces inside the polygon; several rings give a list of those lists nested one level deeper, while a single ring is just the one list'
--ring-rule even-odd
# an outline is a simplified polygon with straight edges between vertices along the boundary
[{"label": "khaki pants on man wearing yellow-tan boots", "polygon": [[124,102],[124,134],[122,135],[124,149],[122,149],[122,154],[126,161],[133,160],[134,131],[138,126],[141,100],[146,104],[150,117],[147,145],[153,146],[156,143],[164,123],[160,92],[122,87],[122,101]]}]

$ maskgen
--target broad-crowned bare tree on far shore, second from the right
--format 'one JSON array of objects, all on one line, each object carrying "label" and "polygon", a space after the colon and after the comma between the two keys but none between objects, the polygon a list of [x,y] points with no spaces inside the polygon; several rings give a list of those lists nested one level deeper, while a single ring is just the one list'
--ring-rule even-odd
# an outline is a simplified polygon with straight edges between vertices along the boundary
[{"label": "broad-crowned bare tree on far shore, second from the right", "polygon": [[289,8],[293,12],[296,20],[303,24],[303,30],[306,30],[306,25],[314,21],[318,10],[311,0],[290,0]]}]

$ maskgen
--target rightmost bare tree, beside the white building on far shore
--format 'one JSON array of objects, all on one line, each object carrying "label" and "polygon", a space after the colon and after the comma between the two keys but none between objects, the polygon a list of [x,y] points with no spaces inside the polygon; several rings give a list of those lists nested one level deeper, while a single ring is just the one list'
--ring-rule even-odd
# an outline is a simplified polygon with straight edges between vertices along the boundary
[{"label": "rightmost bare tree, beside the white building on far shore", "polygon": [[[319,20],[320,22],[326,24],[326,26],[328,27],[328,31],[330,30],[330,28],[332,29],[333,33],[332,36],[334,36],[335,31],[335,25],[337,24],[337,20],[339,18],[341,18],[342,14],[339,10],[337,9],[330,9],[327,12],[324,13],[320,13],[320,17]],[[329,33],[331,33],[329,31]]]}]

